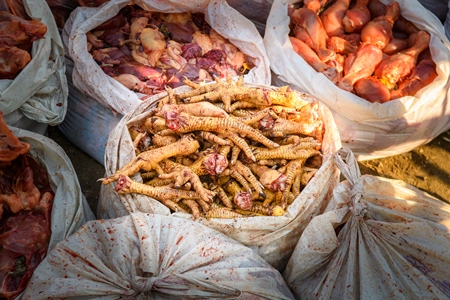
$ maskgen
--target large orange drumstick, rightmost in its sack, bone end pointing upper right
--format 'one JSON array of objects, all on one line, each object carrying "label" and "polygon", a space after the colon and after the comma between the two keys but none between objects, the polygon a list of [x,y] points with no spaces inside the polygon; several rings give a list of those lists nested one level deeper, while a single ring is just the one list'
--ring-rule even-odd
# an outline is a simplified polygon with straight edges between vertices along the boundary
[{"label": "large orange drumstick, rightmost in its sack, bone end pointing upper right", "polygon": [[412,72],[417,63],[417,57],[428,48],[429,43],[430,35],[425,31],[419,31],[411,48],[384,59],[375,69],[374,75],[389,90],[393,90],[397,82],[403,80]]}]

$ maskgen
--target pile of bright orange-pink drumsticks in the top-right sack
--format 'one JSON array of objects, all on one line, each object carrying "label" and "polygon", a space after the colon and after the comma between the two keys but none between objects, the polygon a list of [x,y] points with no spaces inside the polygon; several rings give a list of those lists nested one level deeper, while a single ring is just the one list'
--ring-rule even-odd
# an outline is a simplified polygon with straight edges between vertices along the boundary
[{"label": "pile of bright orange-pink drumsticks in the top-right sack", "polygon": [[288,14],[293,50],[370,102],[414,96],[437,77],[430,34],[406,20],[398,2],[305,0]]}]

